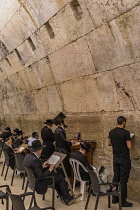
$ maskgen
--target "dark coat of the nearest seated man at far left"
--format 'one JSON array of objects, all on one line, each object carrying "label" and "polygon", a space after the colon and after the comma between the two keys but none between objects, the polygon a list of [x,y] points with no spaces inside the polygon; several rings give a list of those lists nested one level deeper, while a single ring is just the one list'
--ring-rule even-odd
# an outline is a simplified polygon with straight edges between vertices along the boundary
[{"label": "dark coat of the nearest seated man at far left", "polygon": [[5,150],[8,153],[9,166],[11,167],[12,170],[14,170],[14,166],[15,166],[14,150],[7,144],[4,145],[3,150]]}]

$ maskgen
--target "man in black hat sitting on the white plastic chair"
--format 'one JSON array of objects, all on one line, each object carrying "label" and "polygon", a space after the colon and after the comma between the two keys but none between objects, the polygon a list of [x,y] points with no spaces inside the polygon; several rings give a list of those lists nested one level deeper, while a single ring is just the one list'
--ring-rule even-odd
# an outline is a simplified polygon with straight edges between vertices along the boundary
[{"label": "man in black hat sitting on the white plastic chair", "polygon": [[[81,146],[80,150],[72,153],[71,158],[76,159],[79,162],[81,162],[87,170],[93,170],[93,168],[91,167],[91,165],[88,162],[87,157],[86,157],[87,152],[89,152],[89,149],[90,149],[90,144],[88,142],[85,142],[83,144],[80,144],[80,146]],[[90,180],[89,173],[85,172],[82,167],[80,167],[79,170],[80,170],[81,178],[84,181],[89,181]]]}]

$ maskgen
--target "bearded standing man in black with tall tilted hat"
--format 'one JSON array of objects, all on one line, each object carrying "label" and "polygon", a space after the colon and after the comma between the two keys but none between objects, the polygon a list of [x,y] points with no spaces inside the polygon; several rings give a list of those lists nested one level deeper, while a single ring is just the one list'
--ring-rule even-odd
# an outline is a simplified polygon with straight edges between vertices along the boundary
[{"label": "bearded standing man in black with tall tilted hat", "polygon": [[71,153],[71,146],[73,143],[73,140],[68,141],[66,139],[66,132],[65,128],[68,127],[66,121],[64,120],[66,116],[60,112],[59,115],[53,120],[55,125],[58,125],[58,127],[55,129],[55,142],[56,142],[56,151],[61,152],[64,154],[67,154],[66,158],[64,159],[64,167],[66,169],[68,177],[71,176],[71,168],[69,163],[69,157]]}]

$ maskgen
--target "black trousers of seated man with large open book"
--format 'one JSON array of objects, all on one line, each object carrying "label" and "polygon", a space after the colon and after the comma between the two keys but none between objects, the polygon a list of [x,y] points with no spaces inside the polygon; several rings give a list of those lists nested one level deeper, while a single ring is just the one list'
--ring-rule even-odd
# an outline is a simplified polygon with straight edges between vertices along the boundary
[{"label": "black trousers of seated man with large open book", "polygon": [[[57,169],[57,173],[52,172],[51,176],[55,177],[55,189],[58,195],[63,199],[67,199],[69,195],[69,190],[62,169]],[[48,184],[51,183],[49,183],[48,181]]]}]

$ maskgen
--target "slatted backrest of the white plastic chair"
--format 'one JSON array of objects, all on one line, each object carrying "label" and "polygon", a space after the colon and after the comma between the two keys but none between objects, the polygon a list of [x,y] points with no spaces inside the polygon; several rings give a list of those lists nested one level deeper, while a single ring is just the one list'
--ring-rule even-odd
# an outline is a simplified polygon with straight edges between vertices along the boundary
[{"label": "slatted backrest of the white plastic chair", "polygon": [[73,173],[74,173],[74,176],[76,177],[76,179],[77,179],[78,181],[82,181],[82,178],[81,178],[81,175],[80,175],[80,171],[79,171],[79,167],[81,166],[82,169],[83,169],[85,172],[88,172],[88,171],[86,170],[86,168],[84,167],[84,165],[83,165],[80,161],[78,161],[78,160],[76,160],[76,159],[74,159],[74,158],[69,158],[69,162],[70,162],[70,164],[71,164],[71,166],[72,166]]}]

